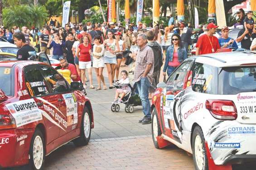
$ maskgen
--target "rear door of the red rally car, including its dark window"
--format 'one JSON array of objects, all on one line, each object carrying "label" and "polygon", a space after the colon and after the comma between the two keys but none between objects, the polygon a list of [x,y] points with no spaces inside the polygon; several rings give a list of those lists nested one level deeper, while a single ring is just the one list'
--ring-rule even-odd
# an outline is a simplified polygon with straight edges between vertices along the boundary
[{"label": "rear door of the red rally car, including its dark window", "polygon": [[51,89],[38,66],[25,67],[24,79],[29,95],[42,112],[48,144],[58,138],[61,128],[55,117],[55,114],[59,112],[58,96],[51,95]]}]

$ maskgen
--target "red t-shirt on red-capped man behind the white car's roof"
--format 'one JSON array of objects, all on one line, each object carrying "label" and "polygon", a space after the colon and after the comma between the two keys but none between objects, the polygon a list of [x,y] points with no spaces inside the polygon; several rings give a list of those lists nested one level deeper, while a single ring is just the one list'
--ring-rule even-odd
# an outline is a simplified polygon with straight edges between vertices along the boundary
[{"label": "red t-shirt on red-capped man behind the white car's roof", "polygon": [[[213,47],[210,41],[212,42]],[[217,37],[209,37],[207,34],[204,34],[198,38],[196,47],[200,48],[199,55],[213,53],[212,48],[214,49],[214,52],[221,48]]]}]

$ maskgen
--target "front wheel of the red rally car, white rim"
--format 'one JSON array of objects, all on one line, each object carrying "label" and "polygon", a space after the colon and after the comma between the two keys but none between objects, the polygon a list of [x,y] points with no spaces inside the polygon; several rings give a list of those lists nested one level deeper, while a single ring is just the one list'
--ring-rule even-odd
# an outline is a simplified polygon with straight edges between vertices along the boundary
[{"label": "front wheel of the red rally car, white rim", "polygon": [[74,144],[78,147],[87,145],[91,138],[92,119],[91,119],[91,113],[86,106],[84,106],[84,111],[82,114],[82,123],[81,123],[80,129],[81,129],[80,137],[73,141]]}]

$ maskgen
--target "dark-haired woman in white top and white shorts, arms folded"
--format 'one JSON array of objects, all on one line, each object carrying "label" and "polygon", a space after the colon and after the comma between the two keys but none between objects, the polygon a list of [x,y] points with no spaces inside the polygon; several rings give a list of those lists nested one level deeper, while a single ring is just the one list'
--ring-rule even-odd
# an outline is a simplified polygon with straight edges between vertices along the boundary
[{"label": "dark-haired woman in white top and white shorts, arms folded", "polygon": [[106,84],[104,81],[104,77],[102,75],[102,71],[104,69],[104,58],[103,58],[103,53],[104,53],[104,46],[101,44],[101,36],[97,35],[93,38],[94,40],[94,46],[93,46],[93,62],[92,62],[92,67],[95,69],[95,72],[97,74],[97,82],[98,82],[98,87],[96,90],[101,90],[101,81],[103,83],[103,89],[106,90]]}]

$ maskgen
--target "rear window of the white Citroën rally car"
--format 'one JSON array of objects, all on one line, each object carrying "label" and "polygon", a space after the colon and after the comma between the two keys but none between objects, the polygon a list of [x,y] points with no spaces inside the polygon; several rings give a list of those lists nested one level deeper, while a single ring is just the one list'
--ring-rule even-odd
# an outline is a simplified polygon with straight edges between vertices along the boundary
[{"label": "rear window of the white Citro\u00ebn rally car", "polygon": [[256,67],[222,68],[218,82],[219,94],[256,92]]}]

